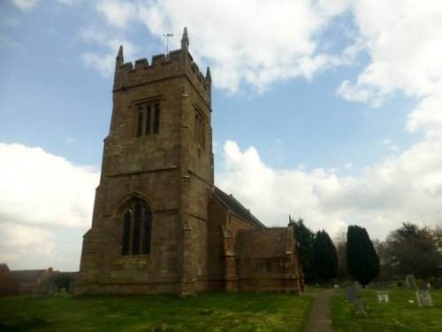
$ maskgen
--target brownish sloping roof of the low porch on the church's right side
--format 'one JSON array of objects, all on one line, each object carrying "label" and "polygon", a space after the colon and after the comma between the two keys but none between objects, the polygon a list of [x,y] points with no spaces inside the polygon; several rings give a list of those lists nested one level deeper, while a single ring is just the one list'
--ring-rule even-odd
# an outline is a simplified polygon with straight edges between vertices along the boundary
[{"label": "brownish sloping roof of the low porch on the church's right side", "polygon": [[235,252],[239,257],[281,257],[286,254],[286,245],[287,228],[240,229],[235,236]]}]

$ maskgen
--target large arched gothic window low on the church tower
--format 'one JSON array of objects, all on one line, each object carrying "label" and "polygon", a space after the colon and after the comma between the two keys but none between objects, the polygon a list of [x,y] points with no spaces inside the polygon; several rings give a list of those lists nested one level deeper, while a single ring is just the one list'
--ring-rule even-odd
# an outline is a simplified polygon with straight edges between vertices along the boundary
[{"label": "large arched gothic window low on the church tower", "polygon": [[149,205],[136,199],[123,212],[122,255],[148,255],[152,230]]}]

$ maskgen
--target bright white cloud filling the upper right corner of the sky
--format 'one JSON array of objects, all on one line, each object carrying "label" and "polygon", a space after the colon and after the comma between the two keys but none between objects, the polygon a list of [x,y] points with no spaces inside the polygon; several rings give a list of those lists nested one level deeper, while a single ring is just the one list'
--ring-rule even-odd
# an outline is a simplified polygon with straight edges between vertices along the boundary
[{"label": "bright white cloud filling the upper right corner of the sky", "polygon": [[362,44],[370,63],[355,83],[343,81],[339,94],[377,107],[400,92],[424,97],[442,80],[442,3],[432,0],[356,0],[354,21],[359,28],[355,48]]}]

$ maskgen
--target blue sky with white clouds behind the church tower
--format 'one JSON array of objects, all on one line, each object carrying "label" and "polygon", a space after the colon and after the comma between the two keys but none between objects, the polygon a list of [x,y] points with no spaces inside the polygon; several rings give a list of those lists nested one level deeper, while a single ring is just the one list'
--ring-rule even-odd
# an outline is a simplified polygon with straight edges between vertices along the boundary
[{"label": "blue sky with white clouds behind the church tower", "polygon": [[216,185],[265,225],[442,226],[441,21],[436,0],[1,0],[0,262],[79,269],[118,47],[150,60],[184,27]]}]

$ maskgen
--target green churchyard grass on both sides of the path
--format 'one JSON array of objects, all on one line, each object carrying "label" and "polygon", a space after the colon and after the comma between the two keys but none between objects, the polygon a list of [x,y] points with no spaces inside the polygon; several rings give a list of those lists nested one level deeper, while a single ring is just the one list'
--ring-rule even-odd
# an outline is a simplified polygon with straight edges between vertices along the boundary
[{"label": "green churchyard grass on both sides of the path", "polygon": [[[442,290],[430,290],[432,307],[420,307],[415,291],[406,285],[358,290],[367,313],[360,316],[347,300],[353,293],[336,289],[331,297],[333,331],[439,331]],[[378,302],[379,292],[388,292],[388,302]],[[0,331],[305,331],[313,301],[313,297],[224,292],[187,298],[2,297]]]}]

